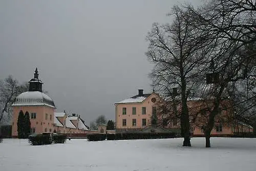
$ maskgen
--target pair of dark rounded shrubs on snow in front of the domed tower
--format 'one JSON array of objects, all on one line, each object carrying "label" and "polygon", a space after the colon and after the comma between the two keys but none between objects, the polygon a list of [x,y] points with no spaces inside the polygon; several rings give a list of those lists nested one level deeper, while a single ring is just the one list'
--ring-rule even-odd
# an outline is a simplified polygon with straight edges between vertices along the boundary
[{"label": "pair of dark rounded shrubs on snow in front of the domed tower", "polygon": [[57,134],[53,135],[30,135],[28,137],[29,143],[32,145],[44,145],[44,144],[51,144],[51,143],[65,143],[67,139],[67,135]]}]

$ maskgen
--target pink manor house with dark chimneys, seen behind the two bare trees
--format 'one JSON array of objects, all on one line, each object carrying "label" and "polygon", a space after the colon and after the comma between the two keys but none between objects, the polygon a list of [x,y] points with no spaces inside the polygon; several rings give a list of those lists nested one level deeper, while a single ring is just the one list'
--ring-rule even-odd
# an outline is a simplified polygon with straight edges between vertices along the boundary
[{"label": "pink manor house with dark chimneys, seen behind the two bare trees", "polygon": [[[138,94],[115,103],[116,107],[116,132],[133,132],[146,130],[148,126],[160,126],[160,129],[167,129],[171,132],[179,133],[180,121],[178,117],[170,117],[163,114],[159,109],[164,100],[154,91],[150,94],[143,94],[143,90],[138,90]],[[166,101],[165,101],[166,102]],[[193,136],[204,136],[203,124],[206,120],[202,119],[198,112],[203,109],[202,101],[198,99],[189,99],[187,102],[190,116],[191,134]],[[178,109],[179,106],[178,106]],[[164,120],[168,116],[168,123]],[[196,116],[196,117],[195,117]],[[252,133],[250,125],[237,120],[231,120],[232,109],[222,110],[220,115],[216,116],[212,136],[231,136],[235,133]],[[156,122],[154,123],[154,118]],[[206,116],[207,119],[207,116]]]}]

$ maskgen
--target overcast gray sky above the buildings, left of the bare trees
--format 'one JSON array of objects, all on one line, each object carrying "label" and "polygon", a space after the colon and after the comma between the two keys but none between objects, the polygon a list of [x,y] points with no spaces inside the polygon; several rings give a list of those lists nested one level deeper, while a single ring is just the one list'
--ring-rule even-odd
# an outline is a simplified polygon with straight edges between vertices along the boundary
[{"label": "overcast gray sky above the buildings, left of the bare trees", "polygon": [[57,112],[88,125],[99,115],[114,120],[115,102],[152,91],[145,37],[154,22],[172,22],[166,13],[179,3],[2,0],[0,79],[25,82],[37,67]]}]

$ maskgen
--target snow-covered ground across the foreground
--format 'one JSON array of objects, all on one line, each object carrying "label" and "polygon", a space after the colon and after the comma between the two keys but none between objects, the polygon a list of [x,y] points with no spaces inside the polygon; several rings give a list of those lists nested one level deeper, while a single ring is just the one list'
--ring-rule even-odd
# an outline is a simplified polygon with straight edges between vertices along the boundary
[{"label": "snow-covered ground across the foreground", "polygon": [[27,140],[4,139],[0,143],[0,170],[256,170],[256,139],[192,138],[193,147],[181,147],[182,139],[120,140],[32,146]]}]

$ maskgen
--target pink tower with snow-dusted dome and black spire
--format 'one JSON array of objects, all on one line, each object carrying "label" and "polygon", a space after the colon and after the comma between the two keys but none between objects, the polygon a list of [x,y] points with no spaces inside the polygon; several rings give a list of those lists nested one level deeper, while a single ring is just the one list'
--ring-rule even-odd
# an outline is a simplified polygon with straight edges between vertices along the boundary
[{"label": "pink tower with snow-dusted dome and black spire", "polygon": [[19,94],[12,104],[12,137],[17,137],[17,120],[20,111],[29,113],[31,133],[53,132],[54,101],[42,93],[43,82],[38,78],[38,70],[34,72],[34,78],[29,81],[29,91]]}]

